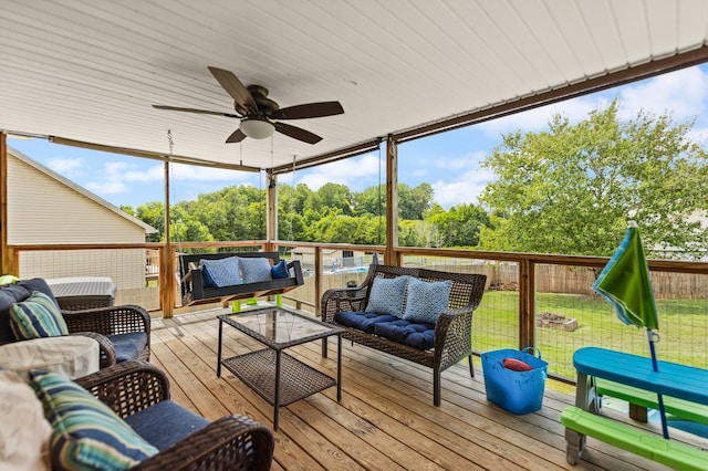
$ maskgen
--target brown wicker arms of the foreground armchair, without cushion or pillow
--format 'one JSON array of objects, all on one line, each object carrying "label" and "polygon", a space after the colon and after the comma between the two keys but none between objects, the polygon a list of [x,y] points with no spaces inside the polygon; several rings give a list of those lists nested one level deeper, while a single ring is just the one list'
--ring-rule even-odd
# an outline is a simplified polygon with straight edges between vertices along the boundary
[{"label": "brown wicker arms of the foreground armchair, without cushion or pillow", "polygon": [[[169,399],[167,376],[147,362],[123,362],[79,378],[75,383],[123,419]],[[155,427],[159,426],[155,423]],[[132,469],[269,470],[273,448],[273,435],[268,427],[248,417],[233,415],[183,437]]]}]

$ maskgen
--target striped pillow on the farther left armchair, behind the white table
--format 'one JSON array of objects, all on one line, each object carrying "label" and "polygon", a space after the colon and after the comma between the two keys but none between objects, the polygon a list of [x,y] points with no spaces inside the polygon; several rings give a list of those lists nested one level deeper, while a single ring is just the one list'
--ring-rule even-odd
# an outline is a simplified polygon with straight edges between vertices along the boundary
[{"label": "striped pillow on the farther left armchair, behind the white table", "polygon": [[54,301],[40,291],[10,306],[10,325],[20,341],[69,335],[69,327]]}]

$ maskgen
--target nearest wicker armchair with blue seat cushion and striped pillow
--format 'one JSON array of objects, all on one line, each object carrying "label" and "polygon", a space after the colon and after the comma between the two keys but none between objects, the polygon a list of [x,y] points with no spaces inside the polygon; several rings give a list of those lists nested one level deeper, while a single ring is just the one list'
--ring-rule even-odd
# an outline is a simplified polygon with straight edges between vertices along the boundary
[{"label": "nearest wicker armchair with blue seat cushion and striped pillow", "polygon": [[[55,430],[60,427],[62,438],[60,441],[52,440],[51,454],[55,467],[63,463],[59,468],[65,468],[66,463],[71,463],[64,461],[67,460],[65,454],[82,462],[93,461],[96,454],[91,454],[87,448],[104,450],[114,446],[115,441],[104,432],[95,435],[90,430],[82,431],[81,427],[92,426],[90,420],[83,418],[83,414],[98,416],[98,406],[87,400],[90,396],[87,399],[77,397],[76,393],[71,391],[71,384],[61,381],[52,379],[51,387],[41,388],[41,391],[37,386],[33,388],[44,405],[45,415],[48,410],[52,411],[52,416],[48,417],[50,422]],[[106,417],[101,423],[110,430],[127,426],[158,450],[132,467],[132,470],[226,471],[269,470],[271,467],[274,441],[268,427],[239,415],[209,422],[171,400],[167,376],[147,362],[124,362],[73,383],[74,388],[81,390],[79,386],[83,387],[124,421],[121,423],[101,412],[101,417]],[[63,429],[62,423],[67,420],[73,425],[71,429]],[[103,440],[105,444],[97,443],[104,443]],[[123,443],[128,442],[122,439],[117,446]],[[134,442],[131,444],[135,450]],[[64,458],[60,459],[60,456]]]}]

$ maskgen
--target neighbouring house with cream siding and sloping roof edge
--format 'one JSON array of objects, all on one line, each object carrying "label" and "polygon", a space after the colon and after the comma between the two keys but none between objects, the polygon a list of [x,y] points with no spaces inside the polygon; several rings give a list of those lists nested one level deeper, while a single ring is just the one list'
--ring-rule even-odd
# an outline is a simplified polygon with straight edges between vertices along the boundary
[{"label": "neighbouring house with cream siding and sloping roof edge", "polygon": [[[144,243],[157,230],[11,147],[8,244]],[[145,250],[22,251],[20,278],[110,276],[118,290],[145,285]]]}]

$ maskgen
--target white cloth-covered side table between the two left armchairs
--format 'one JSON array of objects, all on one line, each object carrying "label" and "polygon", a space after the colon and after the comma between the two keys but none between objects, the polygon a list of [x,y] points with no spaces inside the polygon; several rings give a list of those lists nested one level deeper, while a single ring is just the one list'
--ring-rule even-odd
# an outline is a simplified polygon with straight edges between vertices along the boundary
[{"label": "white cloth-covered side table between the two left armchairs", "polygon": [[71,379],[98,370],[98,343],[81,335],[34,338],[0,345],[0,366],[27,377],[30,369]]}]

